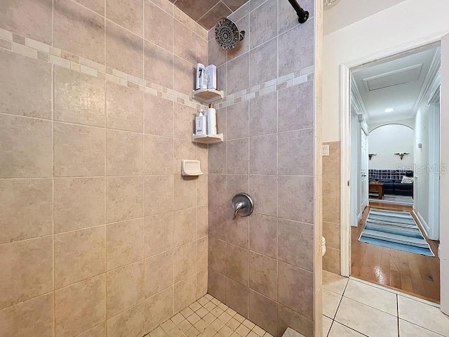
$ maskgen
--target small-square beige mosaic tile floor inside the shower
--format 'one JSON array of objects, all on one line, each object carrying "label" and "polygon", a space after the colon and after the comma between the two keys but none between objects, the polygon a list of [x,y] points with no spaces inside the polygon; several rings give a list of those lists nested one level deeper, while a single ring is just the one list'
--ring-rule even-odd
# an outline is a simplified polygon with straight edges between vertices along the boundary
[{"label": "small-square beige mosaic tile floor inside the shower", "polygon": [[273,337],[206,294],[144,337]]}]

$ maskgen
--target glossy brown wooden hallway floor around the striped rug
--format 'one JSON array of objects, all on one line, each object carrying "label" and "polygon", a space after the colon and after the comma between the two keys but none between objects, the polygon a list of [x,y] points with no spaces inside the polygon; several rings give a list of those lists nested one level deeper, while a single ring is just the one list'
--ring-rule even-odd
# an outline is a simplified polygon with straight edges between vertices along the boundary
[{"label": "glossy brown wooden hallway floor around the striped rug", "polygon": [[[375,209],[412,211],[409,206],[373,203]],[[375,246],[358,241],[370,207],[363,212],[358,227],[351,227],[351,276],[382,284],[440,303],[440,260],[406,251]],[[412,213],[413,214],[413,213]],[[416,219],[415,215],[413,217]],[[427,240],[437,254],[438,242]]]}]

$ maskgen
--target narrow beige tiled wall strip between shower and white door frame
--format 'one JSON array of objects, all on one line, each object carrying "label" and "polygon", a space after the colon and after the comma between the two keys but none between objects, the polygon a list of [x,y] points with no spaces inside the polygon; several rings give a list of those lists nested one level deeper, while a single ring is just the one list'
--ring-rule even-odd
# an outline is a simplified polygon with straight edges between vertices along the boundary
[{"label": "narrow beige tiled wall strip between shower and white door frame", "polygon": [[323,157],[323,269],[340,275],[340,142],[324,144],[329,156]]}]

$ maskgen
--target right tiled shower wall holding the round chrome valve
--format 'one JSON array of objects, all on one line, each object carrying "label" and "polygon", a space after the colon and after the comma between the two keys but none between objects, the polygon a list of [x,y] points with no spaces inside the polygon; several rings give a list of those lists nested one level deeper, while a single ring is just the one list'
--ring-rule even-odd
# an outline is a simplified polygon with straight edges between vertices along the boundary
[{"label": "right tiled shower wall holding the round chrome valve", "polygon": [[[314,1],[303,2],[299,25],[288,1],[249,1],[231,15],[246,31],[233,51],[209,32],[226,97],[225,142],[209,146],[208,290],[274,336],[314,329]],[[232,220],[237,192],[255,211]]]}]

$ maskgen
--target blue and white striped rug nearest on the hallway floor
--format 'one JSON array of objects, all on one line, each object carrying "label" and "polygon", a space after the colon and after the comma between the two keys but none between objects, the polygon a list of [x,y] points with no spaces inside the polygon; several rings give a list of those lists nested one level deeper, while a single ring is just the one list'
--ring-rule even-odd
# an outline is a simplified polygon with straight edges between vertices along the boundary
[{"label": "blue and white striped rug nearest on the hallway floor", "polygon": [[435,256],[410,212],[370,209],[358,241]]}]

